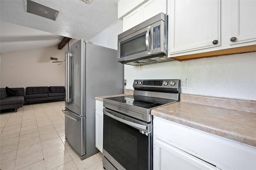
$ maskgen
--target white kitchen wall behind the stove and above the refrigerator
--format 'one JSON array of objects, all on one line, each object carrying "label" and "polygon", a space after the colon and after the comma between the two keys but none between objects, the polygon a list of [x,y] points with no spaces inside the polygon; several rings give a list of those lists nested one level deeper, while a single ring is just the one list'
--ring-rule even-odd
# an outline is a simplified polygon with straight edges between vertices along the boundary
[{"label": "white kitchen wall behind the stove and above the refrigerator", "polygon": [[[122,33],[118,21],[90,39],[94,44],[117,49],[117,36]],[[133,89],[134,79],[187,79],[182,93],[204,96],[256,100],[256,53],[244,53],[169,61],[145,66],[124,65],[126,89]]]}]

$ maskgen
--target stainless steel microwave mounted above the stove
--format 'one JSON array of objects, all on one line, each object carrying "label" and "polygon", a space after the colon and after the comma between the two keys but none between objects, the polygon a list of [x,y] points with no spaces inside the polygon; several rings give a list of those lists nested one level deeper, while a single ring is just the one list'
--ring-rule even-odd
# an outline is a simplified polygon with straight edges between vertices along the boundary
[{"label": "stainless steel microwave mounted above the stove", "polygon": [[118,35],[118,62],[145,65],[170,61],[168,18],[160,13]]}]

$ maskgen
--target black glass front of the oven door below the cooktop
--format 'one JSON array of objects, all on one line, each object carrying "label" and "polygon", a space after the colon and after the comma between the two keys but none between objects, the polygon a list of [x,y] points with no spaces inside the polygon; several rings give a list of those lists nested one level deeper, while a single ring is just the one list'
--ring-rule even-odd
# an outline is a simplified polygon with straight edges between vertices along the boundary
[{"label": "black glass front of the oven door below the cooktop", "polygon": [[103,149],[126,170],[150,169],[151,133],[140,130],[104,115]]}]

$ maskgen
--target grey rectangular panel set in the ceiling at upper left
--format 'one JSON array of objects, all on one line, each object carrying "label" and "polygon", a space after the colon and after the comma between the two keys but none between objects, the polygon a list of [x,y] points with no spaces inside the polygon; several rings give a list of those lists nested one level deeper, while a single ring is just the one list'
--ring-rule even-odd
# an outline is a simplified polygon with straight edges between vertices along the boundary
[{"label": "grey rectangular panel set in the ceiling at upper left", "polygon": [[27,12],[31,14],[35,14],[44,18],[48,18],[50,20],[56,20],[59,11],[44,6],[42,4],[38,4],[32,0],[27,0]]}]

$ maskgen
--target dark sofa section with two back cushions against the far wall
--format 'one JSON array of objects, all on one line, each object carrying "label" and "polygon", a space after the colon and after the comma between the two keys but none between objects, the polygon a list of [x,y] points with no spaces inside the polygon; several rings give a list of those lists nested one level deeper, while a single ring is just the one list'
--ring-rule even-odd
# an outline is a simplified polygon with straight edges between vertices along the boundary
[{"label": "dark sofa section with two back cushions against the far wall", "polygon": [[27,87],[25,102],[42,102],[47,100],[65,99],[64,86],[43,86],[43,87]]}]

